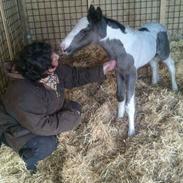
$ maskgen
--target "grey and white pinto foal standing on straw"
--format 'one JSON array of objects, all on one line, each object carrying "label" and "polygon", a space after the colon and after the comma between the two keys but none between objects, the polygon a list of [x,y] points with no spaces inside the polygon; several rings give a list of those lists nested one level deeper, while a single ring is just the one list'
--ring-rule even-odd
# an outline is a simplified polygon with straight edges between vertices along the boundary
[{"label": "grey and white pinto foal standing on straw", "polygon": [[86,17],[82,17],[71,32],[61,42],[60,47],[66,55],[90,43],[103,47],[111,59],[117,62],[117,100],[118,118],[128,115],[128,136],[135,134],[135,85],[137,70],[150,64],[152,83],[159,81],[158,62],[167,67],[172,89],[177,90],[175,64],[170,55],[166,28],[159,23],[146,23],[141,28],[132,29],[103,15],[100,7],[93,5]]}]

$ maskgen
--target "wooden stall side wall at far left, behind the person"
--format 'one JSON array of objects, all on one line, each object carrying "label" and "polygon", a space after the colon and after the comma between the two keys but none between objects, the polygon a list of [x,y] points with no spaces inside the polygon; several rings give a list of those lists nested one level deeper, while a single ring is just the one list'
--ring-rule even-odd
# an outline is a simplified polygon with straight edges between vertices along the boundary
[{"label": "wooden stall side wall at far left, behind the person", "polygon": [[7,83],[3,71],[4,62],[13,60],[24,44],[24,24],[20,2],[0,0],[0,93]]}]

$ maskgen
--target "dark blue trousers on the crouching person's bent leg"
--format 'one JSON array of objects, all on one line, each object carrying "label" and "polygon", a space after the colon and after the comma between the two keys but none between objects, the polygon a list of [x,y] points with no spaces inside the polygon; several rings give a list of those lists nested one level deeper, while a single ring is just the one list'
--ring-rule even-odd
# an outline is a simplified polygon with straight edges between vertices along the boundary
[{"label": "dark blue trousers on the crouching person's bent leg", "polygon": [[39,160],[49,156],[57,147],[56,136],[36,136],[30,139],[19,151],[28,170],[36,170]]}]

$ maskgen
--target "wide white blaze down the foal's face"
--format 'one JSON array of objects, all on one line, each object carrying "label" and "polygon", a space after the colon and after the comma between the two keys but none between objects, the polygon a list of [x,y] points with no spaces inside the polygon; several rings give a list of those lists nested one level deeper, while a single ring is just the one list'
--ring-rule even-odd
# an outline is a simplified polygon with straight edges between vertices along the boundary
[{"label": "wide white blaze down the foal's face", "polygon": [[74,26],[72,31],[66,36],[66,38],[61,43],[61,48],[63,50],[67,49],[74,37],[84,28],[86,28],[89,25],[89,22],[87,20],[87,17],[81,18],[78,23]]}]

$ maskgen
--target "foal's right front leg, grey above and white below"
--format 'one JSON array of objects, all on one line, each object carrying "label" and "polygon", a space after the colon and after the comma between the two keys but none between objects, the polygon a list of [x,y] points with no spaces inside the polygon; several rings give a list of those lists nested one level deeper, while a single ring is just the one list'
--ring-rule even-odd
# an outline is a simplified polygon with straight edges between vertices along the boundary
[{"label": "foal's right front leg, grey above and white below", "polygon": [[137,71],[134,66],[129,70],[127,77],[127,98],[126,112],[128,114],[128,136],[135,134],[135,84],[137,79]]}]

